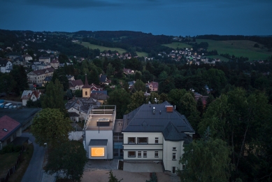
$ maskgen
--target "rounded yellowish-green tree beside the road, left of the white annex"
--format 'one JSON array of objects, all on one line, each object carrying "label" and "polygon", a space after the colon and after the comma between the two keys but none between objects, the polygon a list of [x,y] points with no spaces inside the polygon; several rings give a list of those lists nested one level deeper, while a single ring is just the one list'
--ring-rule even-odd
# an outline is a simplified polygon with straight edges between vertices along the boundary
[{"label": "rounded yellowish-green tree beside the road, left of the white annex", "polygon": [[33,120],[31,132],[36,143],[43,146],[58,146],[68,141],[68,133],[71,131],[71,120],[64,118],[59,109],[43,109]]}]

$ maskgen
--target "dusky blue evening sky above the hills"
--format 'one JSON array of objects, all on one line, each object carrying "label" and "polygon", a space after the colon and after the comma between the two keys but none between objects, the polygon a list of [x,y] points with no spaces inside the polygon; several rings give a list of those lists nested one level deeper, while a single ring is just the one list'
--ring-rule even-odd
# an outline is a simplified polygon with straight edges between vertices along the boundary
[{"label": "dusky blue evening sky above the hills", "polygon": [[0,0],[0,29],[271,35],[272,0]]}]

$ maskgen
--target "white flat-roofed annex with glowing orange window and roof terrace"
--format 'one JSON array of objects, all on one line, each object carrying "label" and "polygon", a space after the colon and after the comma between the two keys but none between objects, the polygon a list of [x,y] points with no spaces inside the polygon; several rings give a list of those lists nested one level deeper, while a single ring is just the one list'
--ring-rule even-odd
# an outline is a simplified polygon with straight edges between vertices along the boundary
[{"label": "white flat-roofed annex with glowing orange window and roof terrace", "polygon": [[113,159],[113,128],[116,106],[103,106],[87,113],[83,144],[89,159]]}]

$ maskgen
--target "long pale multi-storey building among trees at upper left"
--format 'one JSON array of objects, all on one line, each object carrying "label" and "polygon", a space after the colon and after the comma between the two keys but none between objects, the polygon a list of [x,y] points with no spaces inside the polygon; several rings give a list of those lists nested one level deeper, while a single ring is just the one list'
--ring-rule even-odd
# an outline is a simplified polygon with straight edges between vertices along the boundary
[{"label": "long pale multi-storey building among trees at upper left", "polygon": [[46,76],[52,76],[54,73],[55,69],[50,67],[47,69],[40,69],[36,71],[31,71],[27,73],[27,78],[29,83],[36,83],[38,85],[43,84],[43,80],[45,79]]}]

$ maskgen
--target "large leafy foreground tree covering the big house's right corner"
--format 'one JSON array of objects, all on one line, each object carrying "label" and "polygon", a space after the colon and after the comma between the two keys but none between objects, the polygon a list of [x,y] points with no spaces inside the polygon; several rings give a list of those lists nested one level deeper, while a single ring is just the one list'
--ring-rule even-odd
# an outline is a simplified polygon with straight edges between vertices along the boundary
[{"label": "large leafy foreground tree covering the big house's right corner", "polygon": [[193,141],[185,145],[178,171],[180,181],[229,181],[230,149],[221,139]]}]

